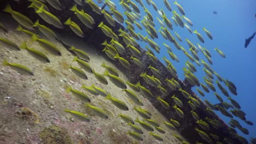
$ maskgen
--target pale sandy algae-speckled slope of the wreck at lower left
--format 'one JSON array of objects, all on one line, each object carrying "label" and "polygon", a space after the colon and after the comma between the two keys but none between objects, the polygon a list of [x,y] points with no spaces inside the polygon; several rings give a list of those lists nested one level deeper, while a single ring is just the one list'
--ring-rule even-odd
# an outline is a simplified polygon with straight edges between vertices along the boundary
[{"label": "pale sandy algae-speckled slope of the wreck at lower left", "polygon": [[[31,41],[30,36],[15,31],[16,22],[8,15],[1,15],[8,26],[8,33],[0,33],[0,37],[9,39],[17,45],[27,41],[29,47],[33,47],[50,59],[50,63],[42,63],[32,57],[26,50],[13,51],[7,45],[0,45],[0,143],[180,143],[173,135],[179,135],[177,131],[165,127],[164,122],[169,121],[162,116],[148,99],[136,94],[142,100],[143,109],[152,113],[152,119],[164,128],[166,133],[161,134],[164,141],[157,141],[149,131],[144,130],[143,141],[137,141],[130,137],[127,132],[132,130],[121,118],[119,113],[123,113],[135,120],[139,117],[136,111],[132,110],[135,103],[127,97],[122,89],[115,86],[109,79],[108,85],[99,82],[94,74],[86,73],[88,80],[80,79],[72,73],[69,66],[79,67],[77,62],[72,62],[74,55],[56,40],[50,40],[56,45],[62,56],[51,55]],[[2,19],[3,20],[3,19]],[[7,25],[7,24],[12,25]],[[40,38],[44,38],[40,35]],[[46,39],[46,38],[45,38]],[[76,49],[86,51],[90,56],[90,66],[100,74],[104,73],[105,68],[101,67],[104,62],[112,68],[117,69],[112,63],[103,57],[104,53],[98,51],[94,46],[83,43],[82,40],[66,36],[63,41],[71,44]],[[10,63],[25,65],[33,71],[33,76],[20,75],[10,67],[2,65],[3,59]],[[118,70],[118,69],[117,69]],[[124,81],[127,78],[118,70],[119,77]],[[111,101],[101,95],[92,95],[85,91],[82,85],[91,86],[94,84],[106,90],[114,98],[124,101],[129,107],[129,111],[122,111],[115,107]],[[95,116],[84,102],[72,93],[67,93],[66,89],[72,87],[82,91],[91,99],[91,105],[104,109],[108,119]],[[88,115],[90,122],[82,122],[64,112],[65,109],[79,111]],[[170,121],[169,121],[170,122]],[[136,123],[138,125],[138,123]],[[154,130],[155,134],[160,134]]]}]

